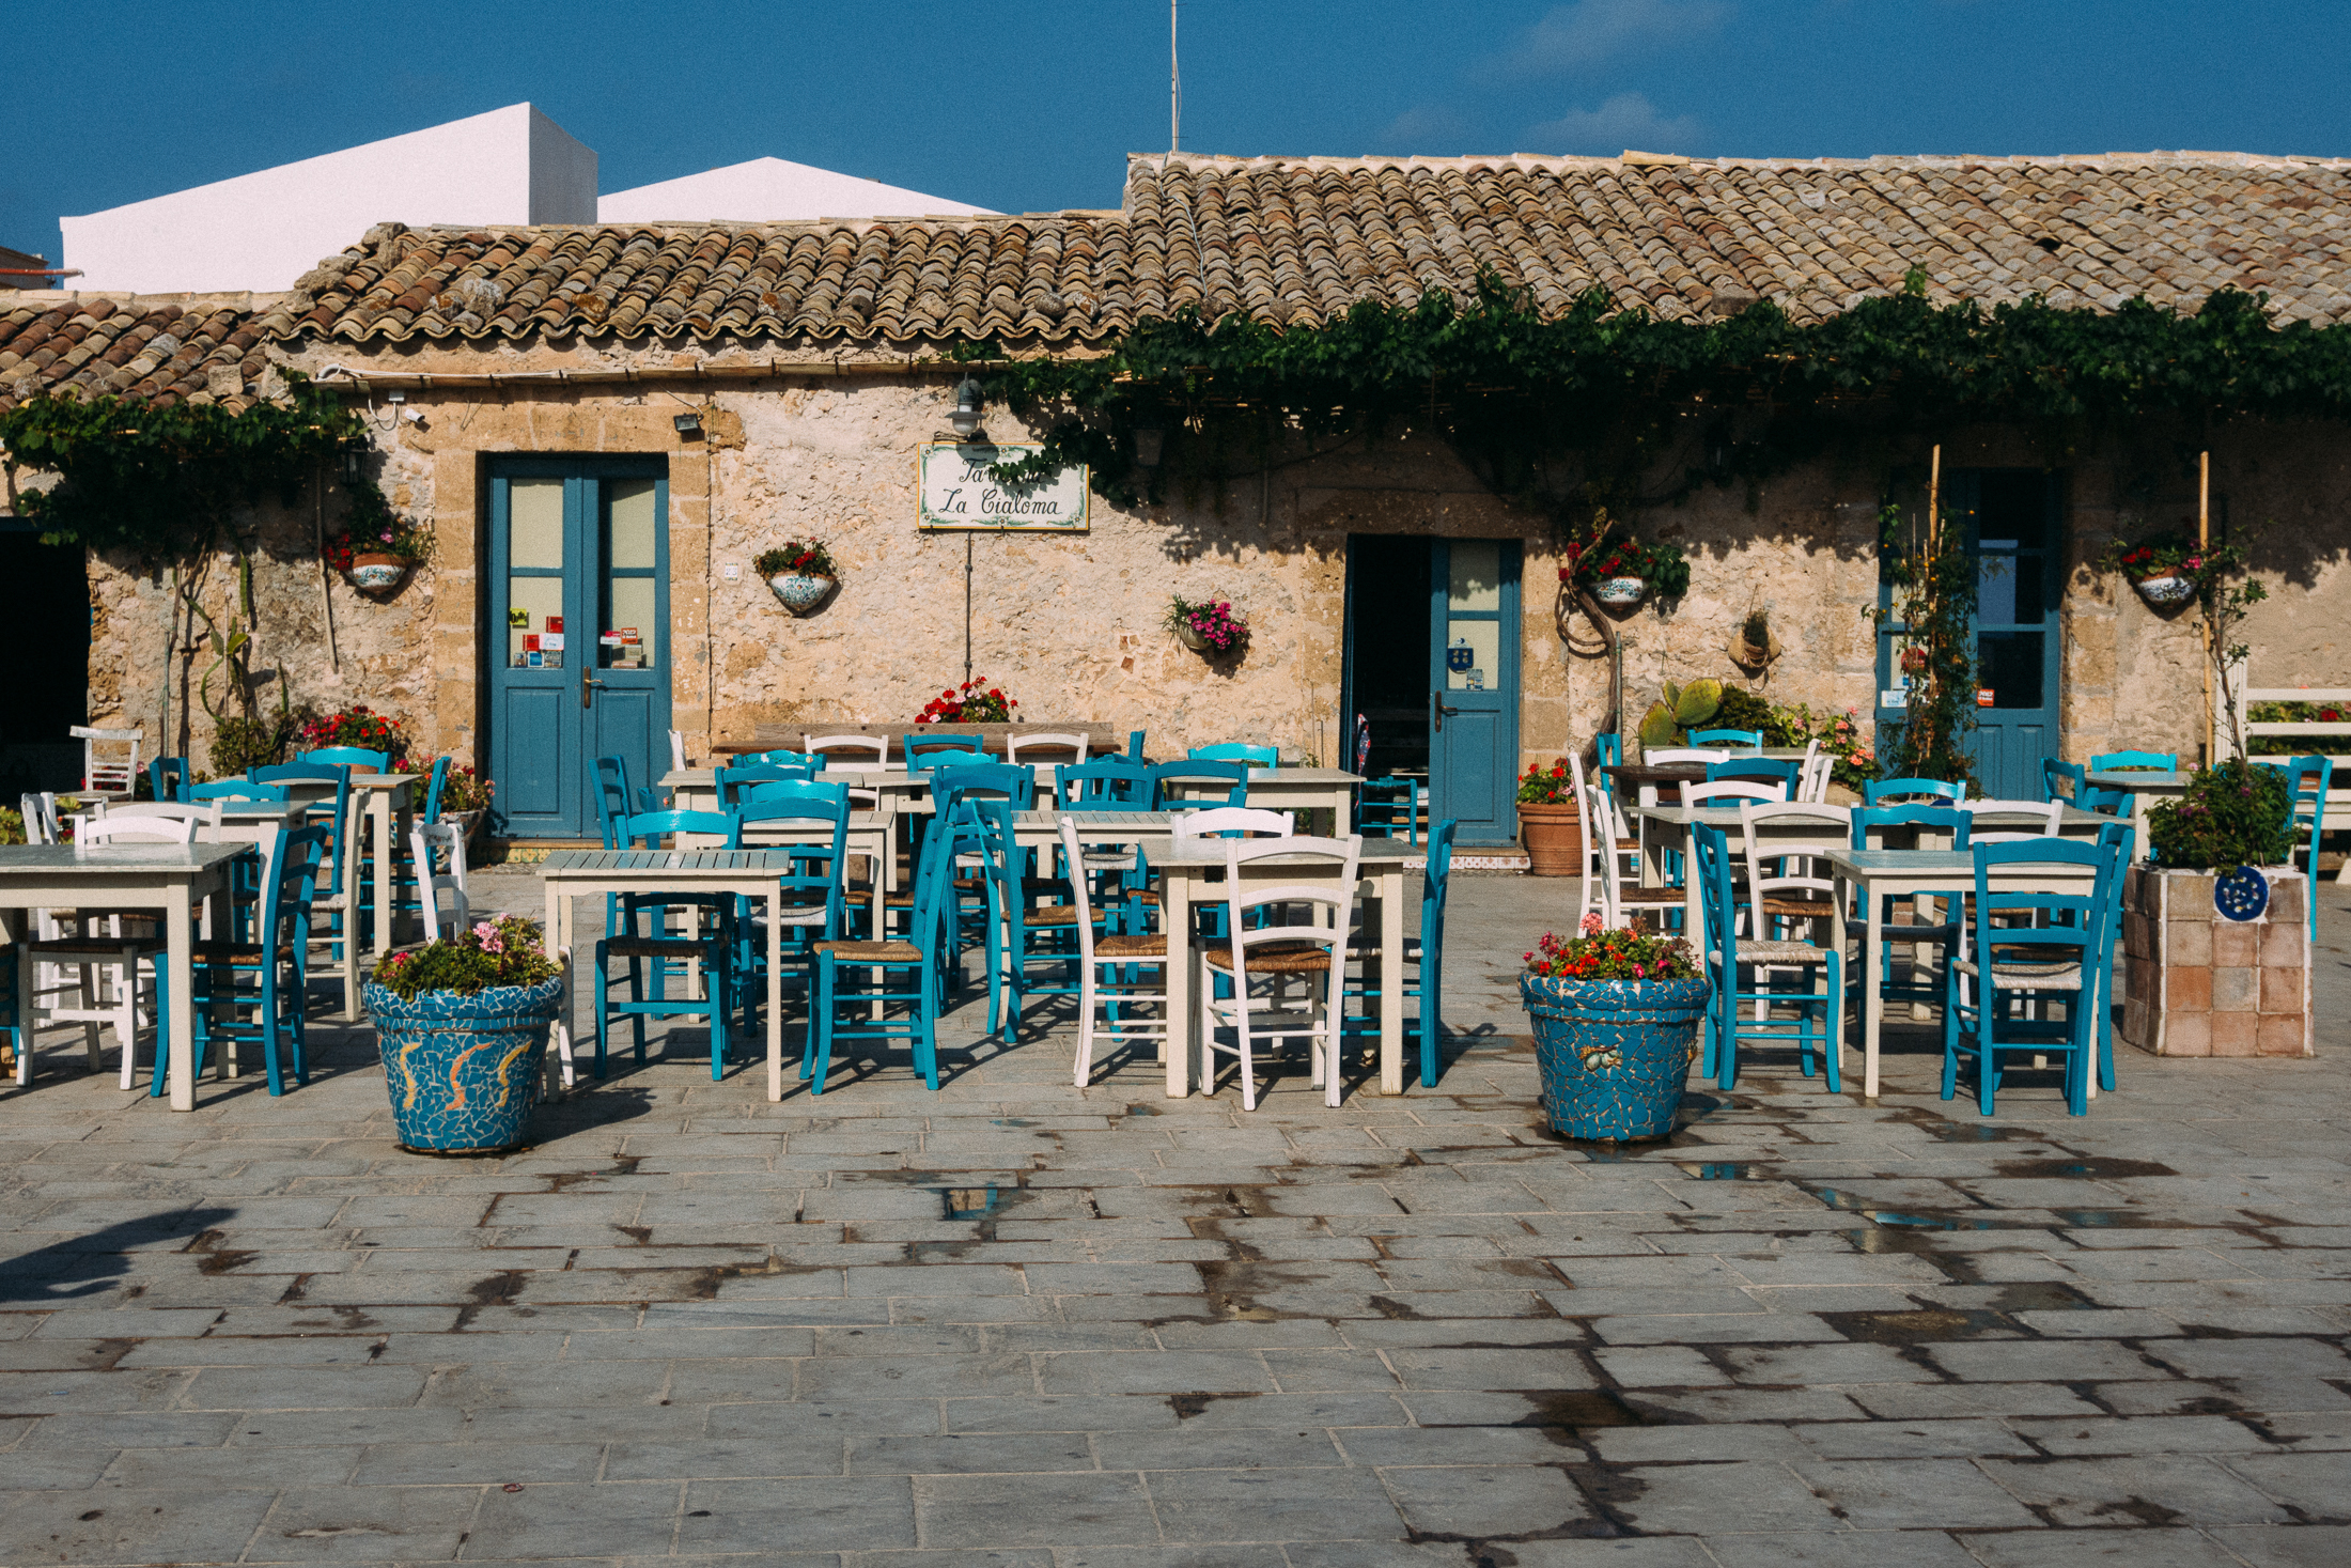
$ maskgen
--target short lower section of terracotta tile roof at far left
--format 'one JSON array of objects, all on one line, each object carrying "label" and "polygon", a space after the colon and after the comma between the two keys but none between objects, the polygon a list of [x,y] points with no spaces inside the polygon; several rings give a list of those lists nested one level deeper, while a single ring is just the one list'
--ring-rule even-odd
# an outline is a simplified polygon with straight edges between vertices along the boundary
[{"label": "short lower section of terracotta tile roof at far left", "polygon": [[294,329],[287,299],[0,292],[0,411],[56,386],[242,409],[268,371],[263,343]]}]

